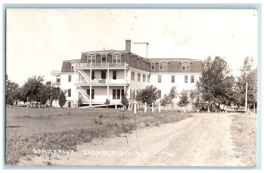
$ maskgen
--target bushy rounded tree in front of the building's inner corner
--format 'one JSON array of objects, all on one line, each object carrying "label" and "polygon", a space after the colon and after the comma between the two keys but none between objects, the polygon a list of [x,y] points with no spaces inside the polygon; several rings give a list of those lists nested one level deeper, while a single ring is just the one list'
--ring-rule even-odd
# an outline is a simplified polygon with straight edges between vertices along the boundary
[{"label": "bushy rounded tree in front of the building's inner corner", "polygon": [[136,100],[138,102],[147,104],[152,104],[155,100],[158,99],[158,89],[157,87],[153,87],[153,85],[149,85],[146,88],[142,89],[140,93],[136,95]]}]

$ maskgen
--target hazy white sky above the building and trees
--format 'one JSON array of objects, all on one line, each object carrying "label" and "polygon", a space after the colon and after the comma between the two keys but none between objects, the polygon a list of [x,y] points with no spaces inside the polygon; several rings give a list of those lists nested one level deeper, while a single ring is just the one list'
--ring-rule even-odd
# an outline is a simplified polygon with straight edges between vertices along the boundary
[{"label": "hazy white sky above the building and trees", "polygon": [[6,26],[6,72],[19,85],[51,80],[84,51],[125,50],[125,40],[148,42],[149,58],[226,57],[235,75],[247,55],[257,65],[256,10],[8,9]]}]

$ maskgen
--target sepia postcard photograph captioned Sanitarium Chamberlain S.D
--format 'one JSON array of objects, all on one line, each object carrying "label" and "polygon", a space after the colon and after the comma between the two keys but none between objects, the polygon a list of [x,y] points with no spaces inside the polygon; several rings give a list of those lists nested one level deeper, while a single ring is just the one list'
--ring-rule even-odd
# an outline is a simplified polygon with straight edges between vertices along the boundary
[{"label": "sepia postcard photograph captioned Sanitarium Chamberlain S.D", "polygon": [[258,10],[6,9],[6,166],[257,166]]}]

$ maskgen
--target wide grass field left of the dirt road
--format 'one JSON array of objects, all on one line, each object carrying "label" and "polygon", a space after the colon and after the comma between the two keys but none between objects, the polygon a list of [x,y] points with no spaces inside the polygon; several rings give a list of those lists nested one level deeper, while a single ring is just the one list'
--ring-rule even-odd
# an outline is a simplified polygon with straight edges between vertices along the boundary
[{"label": "wide grass field left of the dirt road", "polygon": [[[6,164],[15,165],[21,157],[33,154],[33,149],[76,150],[82,142],[98,137],[120,136],[122,110],[65,108],[6,108]],[[188,113],[137,111],[136,128],[178,122]],[[133,111],[124,114],[124,129],[135,129]]]}]

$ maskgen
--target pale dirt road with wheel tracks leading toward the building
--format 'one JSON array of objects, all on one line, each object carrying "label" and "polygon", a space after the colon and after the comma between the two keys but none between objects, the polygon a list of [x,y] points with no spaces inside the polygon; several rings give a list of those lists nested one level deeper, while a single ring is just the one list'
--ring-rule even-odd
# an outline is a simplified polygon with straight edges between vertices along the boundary
[{"label": "pale dirt road with wheel tracks leading toward the building", "polygon": [[[191,118],[102,138],[77,146],[76,154],[35,156],[19,165],[243,166],[230,139],[232,113],[193,114]],[[237,113],[233,113],[237,114]],[[54,149],[54,148],[53,148]]]}]

